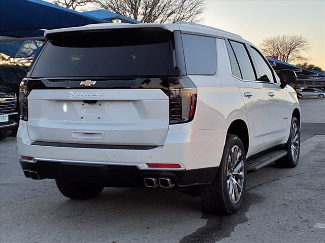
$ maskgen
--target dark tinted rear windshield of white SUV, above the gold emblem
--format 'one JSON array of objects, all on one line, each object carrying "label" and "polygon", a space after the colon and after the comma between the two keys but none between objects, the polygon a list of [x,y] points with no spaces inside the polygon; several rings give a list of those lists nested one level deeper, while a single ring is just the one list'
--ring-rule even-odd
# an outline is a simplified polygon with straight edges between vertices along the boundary
[{"label": "dark tinted rear windshield of white SUV, above the gold emblem", "polygon": [[168,75],[171,34],[161,28],[57,33],[31,76]]}]

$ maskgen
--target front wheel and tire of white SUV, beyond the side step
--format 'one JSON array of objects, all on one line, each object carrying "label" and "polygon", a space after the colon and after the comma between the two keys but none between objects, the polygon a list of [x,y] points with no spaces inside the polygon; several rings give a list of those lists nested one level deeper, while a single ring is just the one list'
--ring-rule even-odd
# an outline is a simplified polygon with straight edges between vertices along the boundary
[{"label": "front wheel and tire of white SUV, beyond the side step", "polygon": [[295,116],[291,118],[290,135],[284,149],[287,151],[287,155],[278,161],[275,161],[275,165],[282,168],[296,167],[300,155],[300,126],[299,121]]}]

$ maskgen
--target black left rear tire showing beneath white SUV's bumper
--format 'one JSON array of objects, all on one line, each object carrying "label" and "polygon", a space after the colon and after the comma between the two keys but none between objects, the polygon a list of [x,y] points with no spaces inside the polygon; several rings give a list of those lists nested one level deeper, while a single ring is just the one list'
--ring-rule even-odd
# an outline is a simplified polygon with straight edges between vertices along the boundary
[{"label": "black left rear tire showing beneath white SUV's bumper", "polygon": [[90,199],[98,196],[104,189],[101,185],[87,182],[64,179],[56,179],[55,182],[59,191],[71,199]]}]

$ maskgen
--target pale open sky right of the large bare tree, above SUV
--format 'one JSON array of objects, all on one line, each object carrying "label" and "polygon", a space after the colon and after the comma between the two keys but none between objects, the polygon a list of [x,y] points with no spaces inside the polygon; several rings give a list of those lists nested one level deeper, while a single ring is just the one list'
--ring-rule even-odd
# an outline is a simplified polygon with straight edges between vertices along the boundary
[{"label": "pale open sky right of the large bare tree, above SUV", "polygon": [[309,62],[325,69],[325,1],[207,1],[203,24],[259,45],[265,37],[298,34],[308,39]]}]

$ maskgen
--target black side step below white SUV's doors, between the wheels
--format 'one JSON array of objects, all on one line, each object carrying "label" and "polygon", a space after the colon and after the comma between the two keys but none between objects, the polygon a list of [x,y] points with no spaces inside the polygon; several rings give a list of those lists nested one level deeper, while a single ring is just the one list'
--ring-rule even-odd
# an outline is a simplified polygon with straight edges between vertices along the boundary
[{"label": "black side step below white SUV's doors, between the wheels", "polygon": [[287,154],[285,150],[275,150],[267,154],[262,155],[261,157],[254,158],[247,161],[247,172],[257,171],[272,162],[284,157]]}]

